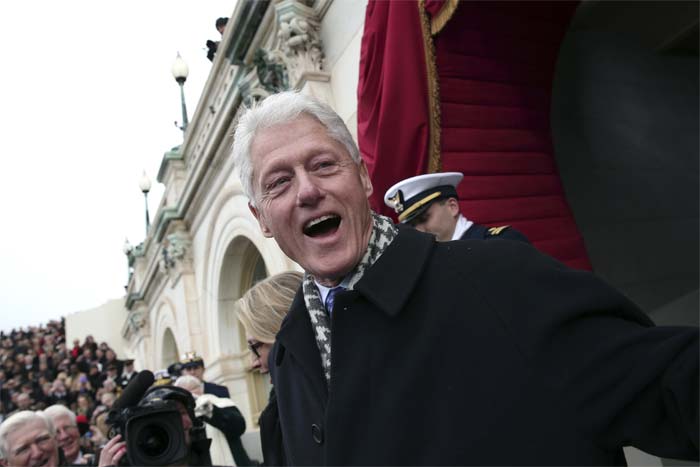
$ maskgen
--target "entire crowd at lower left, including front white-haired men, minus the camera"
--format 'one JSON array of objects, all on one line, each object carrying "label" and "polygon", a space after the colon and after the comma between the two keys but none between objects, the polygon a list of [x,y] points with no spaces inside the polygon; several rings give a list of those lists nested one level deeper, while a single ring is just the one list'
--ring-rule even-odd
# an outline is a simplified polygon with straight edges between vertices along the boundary
[{"label": "entire crowd at lower left, including front white-haired men, minus the camera", "polygon": [[[128,437],[119,414],[128,418],[163,400],[170,402],[160,409],[180,412],[176,431],[181,422],[188,465],[259,463],[242,445],[246,422],[228,388],[204,381],[196,352],[154,375],[135,371],[133,360],[120,360],[92,336],[68,346],[64,320],[2,332],[0,341],[0,465],[117,465]],[[153,417],[168,423],[167,415]]]}]

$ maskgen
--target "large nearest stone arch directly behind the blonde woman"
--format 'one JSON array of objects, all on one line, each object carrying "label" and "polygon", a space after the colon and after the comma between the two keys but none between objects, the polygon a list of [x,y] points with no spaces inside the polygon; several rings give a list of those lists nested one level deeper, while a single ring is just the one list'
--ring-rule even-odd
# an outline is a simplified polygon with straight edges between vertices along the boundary
[{"label": "large nearest stone arch directly behind the blonde woman", "polygon": [[202,309],[211,356],[207,375],[229,388],[249,426],[255,426],[269,391],[265,378],[249,371],[249,351],[234,303],[256,279],[298,266],[262,235],[240,185],[220,193],[214,203],[205,251],[210,252],[202,268]]}]

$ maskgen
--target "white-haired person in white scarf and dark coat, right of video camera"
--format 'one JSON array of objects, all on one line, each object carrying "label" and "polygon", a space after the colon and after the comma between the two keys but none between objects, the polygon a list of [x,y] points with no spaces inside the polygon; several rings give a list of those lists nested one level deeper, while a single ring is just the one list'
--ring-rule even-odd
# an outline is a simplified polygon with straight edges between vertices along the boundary
[{"label": "white-haired person in white scarf and dark coat, right of video camera", "polygon": [[195,415],[205,422],[211,439],[212,462],[216,465],[253,465],[241,442],[245,418],[234,402],[225,397],[204,394],[204,383],[194,376],[180,376],[175,386],[186,389],[195,398]]}]

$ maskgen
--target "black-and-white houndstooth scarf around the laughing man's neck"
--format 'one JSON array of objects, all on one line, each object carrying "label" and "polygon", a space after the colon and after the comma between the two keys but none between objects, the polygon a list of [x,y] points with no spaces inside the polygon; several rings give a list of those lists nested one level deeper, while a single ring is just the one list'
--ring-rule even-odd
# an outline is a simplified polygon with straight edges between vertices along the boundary
[{"label": "black-and-white houndstooth scarf around the laughing man's neck", "polygon": [[[386,247],[396,237],[397,229],[388,217],[380,216],[372,213],[372,233],[369,237],[367,251],[362,257],[355,269],[353,269],[348,277],[348,290],[352,290],[355,284],[362,278],[367,268],[372,266],[377,259],[384,253]],[[323,373],[326,376],[326,383],[331,381],[331,326],[330,318],[326,313],[326,308],[323,306],[321,296],[314,282],[314,277],[311,274],[304,274],[304,302],[306,309],[309,310],[311,318],[311,326],[314,328],[316,336],[316,344],[321,353],[321,365]]]}]

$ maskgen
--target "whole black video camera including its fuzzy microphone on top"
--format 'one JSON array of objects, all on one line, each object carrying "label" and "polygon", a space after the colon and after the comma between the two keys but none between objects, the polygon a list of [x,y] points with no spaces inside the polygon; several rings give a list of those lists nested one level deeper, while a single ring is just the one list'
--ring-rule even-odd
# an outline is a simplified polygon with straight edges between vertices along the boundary
[{"label": "whole black video camera including its fuzzy microphone on top", "polygon": [[[206,438],[204,427],[194,417],[192,395],[169,385],[151,387],[153,381],[150,371],[138,373],[107,416],[109,437],[119,434],[126,441],[126,456],[120,465],[182,465],[192,443]],[[184,405],[195,425],[189,442],[177,402]]]}]

